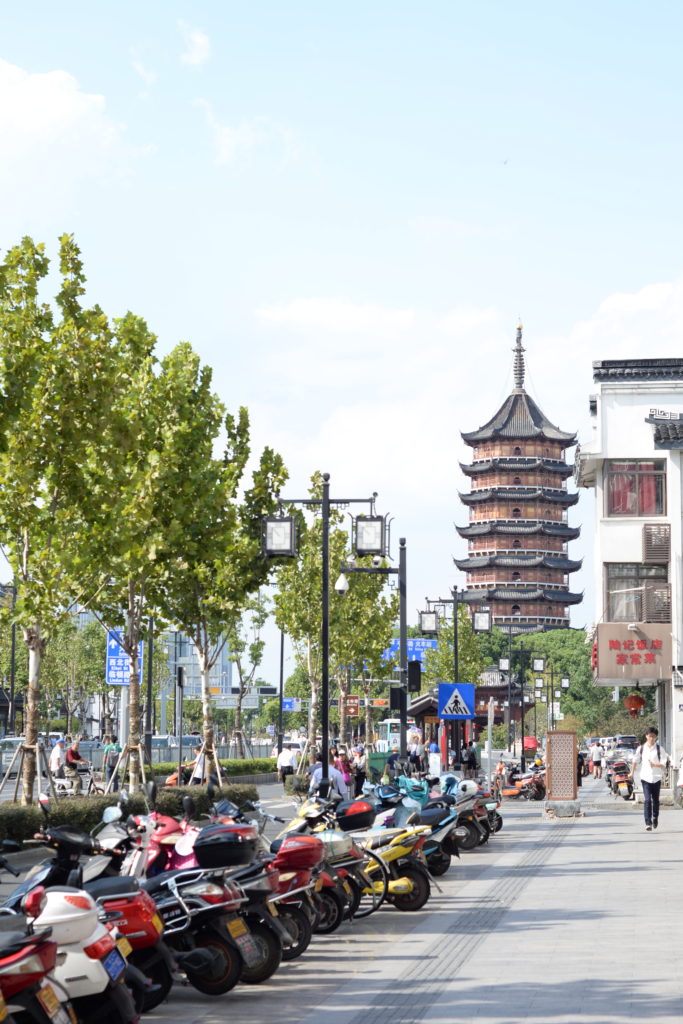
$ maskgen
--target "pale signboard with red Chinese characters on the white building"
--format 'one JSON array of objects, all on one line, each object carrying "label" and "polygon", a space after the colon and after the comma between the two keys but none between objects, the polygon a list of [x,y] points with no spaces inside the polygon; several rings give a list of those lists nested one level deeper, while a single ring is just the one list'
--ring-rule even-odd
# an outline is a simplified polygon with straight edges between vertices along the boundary
[{"label": "pale signboard with red Chinese characters on the white building", "polygon": [[600,623],[593,666],[598,686],[671,679],[671,623]]}]

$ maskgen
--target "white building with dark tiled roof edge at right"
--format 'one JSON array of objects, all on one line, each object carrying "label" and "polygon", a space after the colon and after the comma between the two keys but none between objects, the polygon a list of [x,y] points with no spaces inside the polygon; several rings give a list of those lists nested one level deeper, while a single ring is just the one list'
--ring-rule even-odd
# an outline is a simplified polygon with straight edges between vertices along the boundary
[{"label": "white building with dark tiled roof edge at right", "polygon": [[678,765],[683,359],[600,360],[593,379],[593,438],[577,455],[577,479],[596,492],[595,682],[625,687],[622,697],[655,686],[659,738]]}]

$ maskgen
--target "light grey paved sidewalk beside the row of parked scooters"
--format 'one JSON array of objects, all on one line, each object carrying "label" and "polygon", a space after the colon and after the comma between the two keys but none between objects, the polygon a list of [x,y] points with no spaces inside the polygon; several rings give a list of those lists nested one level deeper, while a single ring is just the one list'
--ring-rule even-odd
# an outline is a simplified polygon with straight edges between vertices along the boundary
[{"label": "light grey paved sidewalk beside the row of parked scooters", "polygon": [[683,813],[664,808],[645,833],[641,809],[604,793],[586,780],[586,816],[570,821],[504,805],[503,831],[424,911],[317,937],[218,1000],[175,991],[151,1024],[679,1024]]}]

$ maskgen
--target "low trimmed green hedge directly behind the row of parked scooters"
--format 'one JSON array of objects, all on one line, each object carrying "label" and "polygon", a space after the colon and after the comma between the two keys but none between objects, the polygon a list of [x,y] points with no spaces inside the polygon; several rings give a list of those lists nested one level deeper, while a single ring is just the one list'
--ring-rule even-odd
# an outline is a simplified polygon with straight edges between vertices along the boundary
[{"label": "low trimmed green hedge directly behind the row of parked scooters", "polygon": [[[241,805],[246,800],[257,800],[258,791],[254,785],[225,785],[220,791],[221,797]],[[182,798],[191,796],[197,806],[197,816],[208,813],[211,801],[205,786],[180,786],[179,788],[160,790],[157,795],[157,810],[161,814],[182,813]],[[84,831],[90,831],[101,821],[102,811],[111,804],[116,804],[117,795],[109,797],[74,797],[60,800],[56,806],[51,806],[50,820],[54,824],[70,824]],[[126,810],[130,814],[146,813],[146,804],[140,795],[131,797]],[[43,812],[37,805],[22,807],[20,804],[0,804],[0,841],[13,839],[17,843],[33,836],[45,821]]]}]

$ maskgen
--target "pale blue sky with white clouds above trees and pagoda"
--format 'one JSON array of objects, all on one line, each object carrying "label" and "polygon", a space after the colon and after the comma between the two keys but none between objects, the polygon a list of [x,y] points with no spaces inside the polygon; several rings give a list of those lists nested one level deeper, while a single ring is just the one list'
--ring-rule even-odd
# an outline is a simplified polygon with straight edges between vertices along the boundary
[{"label": "pale blue sky with white clouds above trees and pagoda", "polygon": [[[509,392],[518,316],[585,439],[592,359],[680,352],[682,29],[673,2],[14,5],[0,247],[73,231],[89,297],[189,340],[291,493],[378,490],[417,608],[457,580],[459,431]],[[589,496],[571,521],[590,557]]]}]

